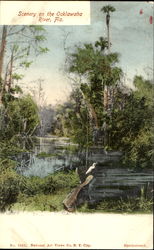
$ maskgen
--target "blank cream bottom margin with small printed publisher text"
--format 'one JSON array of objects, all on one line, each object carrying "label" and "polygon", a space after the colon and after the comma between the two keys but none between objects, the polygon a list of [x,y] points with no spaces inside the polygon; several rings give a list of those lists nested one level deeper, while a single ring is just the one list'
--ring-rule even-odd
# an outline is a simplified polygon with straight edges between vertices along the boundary
[{"label": "blank cream bottom margin with small printed publisher text", "polygon": [[152,214],[0,214],[0,248],[152,249]]}]

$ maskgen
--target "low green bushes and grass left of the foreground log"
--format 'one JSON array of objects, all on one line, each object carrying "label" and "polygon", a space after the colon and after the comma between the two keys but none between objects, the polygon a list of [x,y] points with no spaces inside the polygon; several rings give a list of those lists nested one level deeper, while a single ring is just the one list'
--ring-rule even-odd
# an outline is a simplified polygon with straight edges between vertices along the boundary
[{"label": "low green bushes and grass left of the foreground log", "polygon": [[10,207],[59,211],[67,193],[79,184],[74,171],[57,172],[44,178],[24,177],[16,173],[15,166],[14,161],[0,158],[0,211]]}]

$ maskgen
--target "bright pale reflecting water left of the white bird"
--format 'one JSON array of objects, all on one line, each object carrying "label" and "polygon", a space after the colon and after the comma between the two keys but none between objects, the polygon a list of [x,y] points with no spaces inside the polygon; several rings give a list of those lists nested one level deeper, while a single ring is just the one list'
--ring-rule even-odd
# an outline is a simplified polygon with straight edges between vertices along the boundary
[{"label": "bright pale reflecting water left of the white bird", "polygon": [[75,169],[80,162],[78,145],[68,138],[35,138],[31,153],[18,156],[17,172],[45,177],[61,169]]}]

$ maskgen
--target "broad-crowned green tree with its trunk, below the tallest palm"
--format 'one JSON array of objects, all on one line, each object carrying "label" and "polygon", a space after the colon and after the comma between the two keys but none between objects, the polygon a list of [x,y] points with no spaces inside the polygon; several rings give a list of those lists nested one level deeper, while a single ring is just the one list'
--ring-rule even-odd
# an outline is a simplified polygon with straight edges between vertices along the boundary
[{"label": "broad-crowned green tree with its trunk, below the tallest palm", "polygon": [[118,53],[108,54],[106,50],[107,40],[101,37],[94,45],[76,47],[68,58],[68,71],[72,77],[80,76],[80,83],[76,85],[79,85],[83,95],[92,127],[99,134],[109,119],[104,107],[104,86],[116,87],[122,76],[122,70],[115,66],[119,59]]}]

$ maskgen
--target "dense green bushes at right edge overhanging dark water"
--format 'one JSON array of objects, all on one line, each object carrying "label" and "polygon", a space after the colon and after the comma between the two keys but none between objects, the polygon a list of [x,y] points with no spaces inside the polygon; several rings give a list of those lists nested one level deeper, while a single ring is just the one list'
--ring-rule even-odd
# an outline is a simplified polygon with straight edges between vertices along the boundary
[{"label": "dense green bushes at right edge overhanging dark water", "polygon": [[[122,143],[127,145],[130,161],[140,167],[152,166],[152,115],[154,92],[151,81],[144,80],[140,76],[134,78],[136,90],[131,95],[131,102],[126,106],[127,125]],[[128,132],[126,132],[126,128]]]}]

